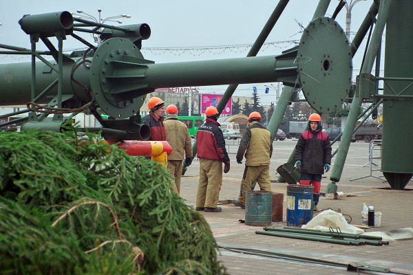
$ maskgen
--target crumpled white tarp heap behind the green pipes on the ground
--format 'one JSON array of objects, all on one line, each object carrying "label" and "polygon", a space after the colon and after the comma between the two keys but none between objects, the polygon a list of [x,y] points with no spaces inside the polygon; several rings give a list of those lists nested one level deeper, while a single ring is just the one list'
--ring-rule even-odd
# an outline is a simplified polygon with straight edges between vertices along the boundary
[{"label": "crumpled white tarp heap behind the green pipes on the ground", "polygon": [[343,233],[361,234],[364,230],[357,228],[347,223],[346,218],[339,212],[333,210],[325,210],[311,221],[308,221],[306,225],[302,225],[301,228],[321,230],[322,232],[330,232],[330,228],[335,231],[340,228]]}]

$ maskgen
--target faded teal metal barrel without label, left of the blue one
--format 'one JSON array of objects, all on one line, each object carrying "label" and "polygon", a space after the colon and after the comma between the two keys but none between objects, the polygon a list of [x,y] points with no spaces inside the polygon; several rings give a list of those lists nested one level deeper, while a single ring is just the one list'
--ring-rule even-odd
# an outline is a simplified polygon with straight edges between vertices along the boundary
[{"label": "faded teal metal barrel without label, left of the blue one", "polygon": [[245,224],[271,225],[273,214],[273,192],[246,191]]}]

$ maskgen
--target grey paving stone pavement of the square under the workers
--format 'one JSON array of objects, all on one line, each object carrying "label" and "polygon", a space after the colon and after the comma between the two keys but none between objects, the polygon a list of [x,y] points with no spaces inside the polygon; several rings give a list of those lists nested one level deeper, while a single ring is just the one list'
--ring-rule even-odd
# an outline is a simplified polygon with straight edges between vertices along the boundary
[{"label": "grey paving stone pavement of the square under the workers", "polygon": [[[387,267],[387,274],[413,274],[413,240],[390,241],[389,245],[338,245],[321,243],[317,241],[304,241],[299,239],[287,239],[276,236],[264,236],[255,234],[256,230],[262,230],[260,226],[249,226],[241,223],[245,219],[245,210],[233,206],[230,202],[237,198],[240,192],[240,180],[244,171],[244,164],[235,162],[239,140],[227,140],[227,150],[231,158],[231,170],[224,174],[220,201],[222,212],[203,212],[216,241],[220,245],[219,260],[229,274],[354,274],[345,267],[336,267],[326,264],[316,264],[312,261],[301,262],[287,259],[271,258],[226,250],[225,248],[241,248],[249,250],[261,250],[264,252],[281,253],[292,256],[302,256],[310,259],[322,259],[348,265],[348,263],[366,263],[379,267]],[[274,192],[284,194],[283,221],[272,223],[271,226],[286,226],[286,183],[276,183],[277,167],[284,164],[293,150],[297,140],[276,141],[273,143],[274,151],[271,158],[270,174],[271,187]],[[333,145],[333,151],[337,148]],[[386,232],[401,228],[413,227],[413,182],[410,181],[405,190],[392,190],[387,182],[381,180],[379,170],[370,175],[368,164],[368,143],[355,142],[350,144],[350,150],[343,168],[341,180],[337,184],[338,191],[348,197],[343,199],[327,199],[321,197],[319,212],[332,209],[341,212],[350,224],[361,225],[361,210],[363,203],[374,206],[374,209],[382,213],[381,227],[369,228],[366,232]],[[335,158],[332,159],[334,166]],[[374,159],[374,164],[380,165],[381,159]],[[373,166],[374,169],[379,166]],[[199,162],[195,161],[182,177],[181,197],[190,206],[195,207],[195,197],[198,188]],[[328,177],[321,181],[321,192],[326,190],[330,183]],[[363,179],[353,180],[357,177]],[[258,188],[258,187],[257,187]],[[255,188],[255,190],[258,190]],[[317,214],[317,213],[316,213]],[[361,274],[383,274],[381,272],[359,271]]]}]

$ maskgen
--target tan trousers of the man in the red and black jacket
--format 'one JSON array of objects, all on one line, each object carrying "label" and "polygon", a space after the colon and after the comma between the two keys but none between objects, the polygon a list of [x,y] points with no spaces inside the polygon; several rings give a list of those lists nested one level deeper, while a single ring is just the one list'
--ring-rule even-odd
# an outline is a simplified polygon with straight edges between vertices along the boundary
[{"label": "tan trousers of the man in the red and black jacket", "polygon": [[222,186],[222,162],[200,158],[200,181],[196,194],[196,207],[216,208]]}]

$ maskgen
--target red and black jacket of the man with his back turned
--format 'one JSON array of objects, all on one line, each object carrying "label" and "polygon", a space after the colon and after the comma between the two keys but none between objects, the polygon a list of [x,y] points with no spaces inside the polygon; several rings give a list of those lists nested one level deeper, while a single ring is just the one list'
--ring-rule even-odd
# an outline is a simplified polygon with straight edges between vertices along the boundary
[{"label": "red and black jacket of the man with his back turned", "polygon": [[220,124],[211,118],[200,126],[196,132],[196,144],[198,146],[196,155],[203,159],[216,159],[229,164],[228,153],[226,153],[224,135]]}]

